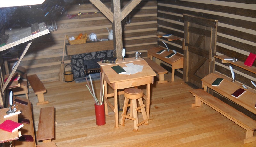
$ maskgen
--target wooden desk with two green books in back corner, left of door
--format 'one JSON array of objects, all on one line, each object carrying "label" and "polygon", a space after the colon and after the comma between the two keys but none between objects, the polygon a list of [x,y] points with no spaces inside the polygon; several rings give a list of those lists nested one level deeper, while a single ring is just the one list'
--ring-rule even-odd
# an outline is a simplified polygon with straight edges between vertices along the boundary
[{"label": "wooden desk with two green books in back corner, left of door", "polygon": [[162,54],[156,54],[158,51],[162,50],[164,48],[162,47],[154,47],[152,49],[148,50],[148,57],[152,60],[153,57],[158,58],[159,60],[162,60],[170,65],[172,65],[172,78],[171,81],[174,81],[174,72],[175,69],[183,68],[183,55],[176,53],[176,55],[172,56],[171,58],[165,58],[167,55],[173,53],[172,50],[169,50],[169,52],[164,51]]}]

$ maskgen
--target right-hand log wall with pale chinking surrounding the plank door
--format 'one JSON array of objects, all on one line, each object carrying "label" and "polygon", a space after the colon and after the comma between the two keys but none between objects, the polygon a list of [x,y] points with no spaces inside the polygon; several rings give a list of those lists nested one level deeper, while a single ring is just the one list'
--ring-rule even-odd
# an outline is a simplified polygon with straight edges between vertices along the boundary
[{"label": "right-hand log wall with pale chinking surrounding the plank door", "polygon": [[[158,1],[158,33],[170,33],[184,37],[183,14],[190,14],[218,20],[216,55],[236,57],[244,62],[250,52],[256,54],[256,2],[229,0],[176,0]],[[168,48],[183,54],[182,40],[168,42],[159,38],[158,44],[167,43]],[[215,71],[231,76],[228,63],[216,59]],[[256,66],[254,62],[253,66]],[[232,66],[236,80],[255,88],[250,81],[256,81],[256,74]],[[178,70],[181,74],[182,70]],[[256,88],[255,88],[256,89]]]}]

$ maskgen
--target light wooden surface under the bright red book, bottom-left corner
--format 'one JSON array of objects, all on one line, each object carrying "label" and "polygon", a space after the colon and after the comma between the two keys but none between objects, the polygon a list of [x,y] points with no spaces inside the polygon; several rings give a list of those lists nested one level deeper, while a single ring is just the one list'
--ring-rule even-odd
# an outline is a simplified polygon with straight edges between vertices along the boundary
[{"label": "light wooden surface under the bright red book, bottom-left corner", "polygon": [[[15,107],[18,108],[17,106],[15,106]],[[12,109],[13,109],[13,107],[12,107]],[[8,111],[8,110],[9,110],[9,108],[0,109],[0,116],[1,116],[0,124],[3,123],[5,120],[12,120],[14,122],[18,122],[18,115],[4,118],[4,115],[7,115],[6,111]],[[10,132],[0,129],[0,143],[17,140],[17,139],[19,139],[18,130],[13,133],[10,133]]]}]

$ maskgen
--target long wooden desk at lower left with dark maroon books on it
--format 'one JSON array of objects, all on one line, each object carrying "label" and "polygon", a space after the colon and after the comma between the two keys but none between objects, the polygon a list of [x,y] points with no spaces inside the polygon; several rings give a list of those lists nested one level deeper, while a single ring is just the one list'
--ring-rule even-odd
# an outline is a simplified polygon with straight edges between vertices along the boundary
[{"label": "long wooden desk at lower left with dark maroon books on it", "polygon": [[20,98],[20,97],[15,97],[15,101],[17,100],[21,100],[25,103],[27,103],[27,105],[19,103],[18,101],[15,102],[15,104],[17,106],[19,106],[19,110],[22,112],[20,115],[18,115],[19,119],[23,118],[23,119],[28,119],[29,120],[29,124],[28,123],[22,123],[24,126],[22,128],[19,129],[19,131],[21,132],[21,135],[31,135],[33,138],[33,142],[31,141],[15,141],[13,146],[15,147],[35,147],[36,146],[36,138],[35,138],[35,132],[34,132],[34,123],[33,123],[33,114],[32,114],[32,105],[30,103],[30,101],[28,99],[25,98]]}]

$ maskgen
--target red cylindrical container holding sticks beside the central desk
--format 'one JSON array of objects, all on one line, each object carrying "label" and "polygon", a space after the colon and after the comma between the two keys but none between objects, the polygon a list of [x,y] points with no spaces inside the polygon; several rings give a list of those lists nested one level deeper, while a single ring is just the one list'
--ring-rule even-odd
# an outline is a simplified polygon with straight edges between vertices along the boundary
[{"label": "red cylindrical container holding sticks beside the central desk", "polygon": [[104,103],[102,105],[94,104],[94,107],[95,107],[96,125],[98,126],[105,125],[106,119],[105,119]]}]

